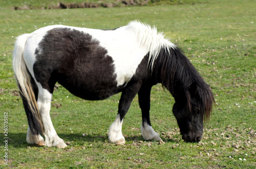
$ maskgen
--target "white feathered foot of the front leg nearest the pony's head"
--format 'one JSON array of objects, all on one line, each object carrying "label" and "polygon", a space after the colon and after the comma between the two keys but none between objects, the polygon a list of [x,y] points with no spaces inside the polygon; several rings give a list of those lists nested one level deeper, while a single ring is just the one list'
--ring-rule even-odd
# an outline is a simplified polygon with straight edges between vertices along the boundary
[{"label": "white feathered foot of the front leg nearest the pony's head", "polygon": [[144,124],[141,125],[141,134],[145,140],[162,140],[159,134],[154,131],[152,126],[148,125],[146,122],[144,122]]}]

